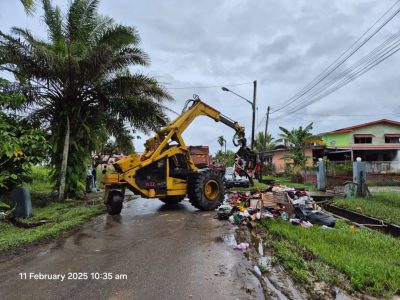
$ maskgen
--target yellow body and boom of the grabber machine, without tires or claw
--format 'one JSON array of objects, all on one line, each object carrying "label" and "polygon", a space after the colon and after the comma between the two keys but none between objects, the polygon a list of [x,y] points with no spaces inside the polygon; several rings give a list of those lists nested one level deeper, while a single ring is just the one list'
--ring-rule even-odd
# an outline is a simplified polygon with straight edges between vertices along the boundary
[{"label": "yellow body and boom of the grabber machine, without tires or claw", "polygon": [[[132,154],[114,164],[115,172],[104,174],[105,203],[111,189],[129,188],[145,198],[166,198],[186,196],[188,176],[197,172],[189,150],[182,139],[182,133],[198,116],[207,116],[222,122],[244,137],[244,128],[199,99],[167,126],[162,127],[154,137],[146,141],[143,155]],[[188,105],[188,103],[187,103]],[[186,106],[187,106],[186,105]],[[215,194],[212,182],[206,186],[209,196]]]}]

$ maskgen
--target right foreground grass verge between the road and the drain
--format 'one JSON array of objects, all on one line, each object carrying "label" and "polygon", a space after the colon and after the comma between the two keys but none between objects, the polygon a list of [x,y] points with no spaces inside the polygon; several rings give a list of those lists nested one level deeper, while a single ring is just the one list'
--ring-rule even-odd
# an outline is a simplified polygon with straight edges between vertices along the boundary
[{"label": "right foreground grass verge between the road and the drain", "polygon": [[[400,240],[375,231],[352,231],[344,221],[335,230],[302,228],[289,222],[263,220],[262,228],[293,278],[339,282],[344,274],[355,290],[390,297],[400,292]],[[331,269],[336,271],[331,272]]]}]

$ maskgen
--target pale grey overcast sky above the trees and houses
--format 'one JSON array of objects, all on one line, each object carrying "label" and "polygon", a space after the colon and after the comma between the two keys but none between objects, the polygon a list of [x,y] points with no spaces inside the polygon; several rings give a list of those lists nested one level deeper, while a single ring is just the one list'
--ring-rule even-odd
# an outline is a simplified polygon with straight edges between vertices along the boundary
[{"label": "pale grey overcast sky above the trees and houses", "polygon": [[[68,1],[55,3],[65,9]],[[156,77],[169,89],[175,98],[172,109],[181,111],[185,100],[198,94],[244,125],[250,134],[248,103],[220,87],[199,87],[248,83],[229,88],[251,100],[252,81],[257,80],[256,125],[257,131],[263,131],[268,105],[279,108],[305,87],[393,3],[394,0],[103,0],[100,13],[139,31],[141,47],[152,61],[150,67],[140,71]],[[45,36],[40,15],[38,9],[35,16],[27,17],[20,1],[0,0],[2,31],[17,25]],[[396,32],[399,21],[396,16],[349,63]],[[269,132],[276,136],[278,126],[291,129],[309,121],[314,122],[314,133],[381,118],[399,121],[399,70],[397,54],[297,114],[271,114]],[[368,116],[338,116],[343,114]],[[220,135],[233,149],[233,133],[223,124],[201,117],[184,138],[188,145],[209,145],[214,153],[219,149]],[[135,141],[137,150],[143,149],[143,143],[144,139]]]}]

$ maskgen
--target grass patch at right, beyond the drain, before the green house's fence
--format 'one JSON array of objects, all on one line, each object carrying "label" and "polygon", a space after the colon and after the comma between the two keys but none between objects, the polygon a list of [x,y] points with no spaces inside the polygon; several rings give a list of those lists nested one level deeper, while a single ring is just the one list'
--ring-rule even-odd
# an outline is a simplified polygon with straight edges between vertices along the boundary
[{"label": "grass patch at right, beyond the drain, before the green house's fence", "polygon": [[386,192],[369,198],[337,199],[338,206],[400,225],[400,195]]}]

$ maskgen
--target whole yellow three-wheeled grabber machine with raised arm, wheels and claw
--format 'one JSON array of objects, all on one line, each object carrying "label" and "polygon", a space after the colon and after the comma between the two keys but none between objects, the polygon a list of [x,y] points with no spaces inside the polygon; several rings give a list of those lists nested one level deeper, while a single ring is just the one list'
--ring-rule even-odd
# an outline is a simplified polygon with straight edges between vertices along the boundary
[{"label": "whole yellow three-wheeled grabber machine with raised arm, wheels and claw", "polygon": [[143,155],[132,154],[114,164],[115,172],[103,175],[104,203],[111,215],[119,214],[128,188],[145,198],[176,204],[186,196],[200,210],[214,210],[224,199],[219,172],[198,169],[182,139],[182,133],[198,116],[207,116],[236,131],[233,143],[240,146],[246,167],[254,167],[254,155],[246,147],[245,131],[237,122],[202,102],[197,95],[186,101],[182,114],[146,141]]}]

